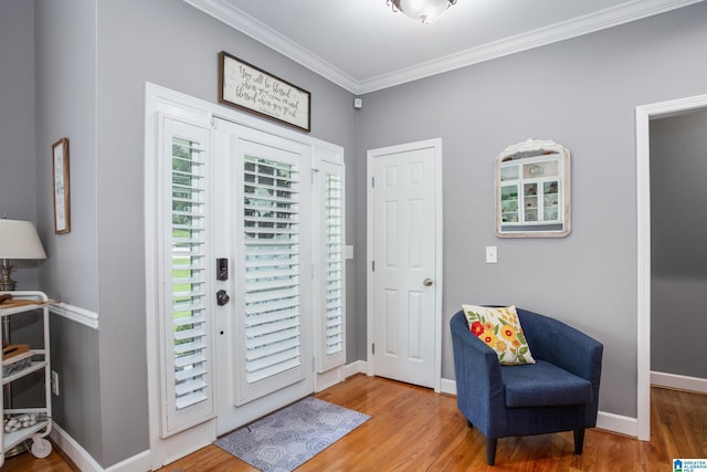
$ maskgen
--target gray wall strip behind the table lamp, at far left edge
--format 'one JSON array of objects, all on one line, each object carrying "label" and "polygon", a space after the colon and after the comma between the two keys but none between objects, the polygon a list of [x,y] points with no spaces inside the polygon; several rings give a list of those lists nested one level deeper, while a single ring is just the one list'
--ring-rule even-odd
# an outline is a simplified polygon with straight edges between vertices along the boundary
[{"label": "gray wall strip behind the table lamp, at far left edge", "polygon": [[[32,2],[0,2],[0,218],[36,221],[34,38]],[[18,290],[35,290],[36,269],[12,272]]]}]

